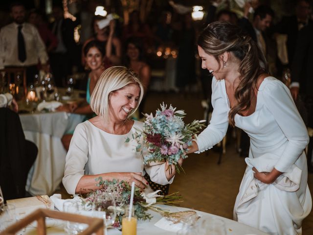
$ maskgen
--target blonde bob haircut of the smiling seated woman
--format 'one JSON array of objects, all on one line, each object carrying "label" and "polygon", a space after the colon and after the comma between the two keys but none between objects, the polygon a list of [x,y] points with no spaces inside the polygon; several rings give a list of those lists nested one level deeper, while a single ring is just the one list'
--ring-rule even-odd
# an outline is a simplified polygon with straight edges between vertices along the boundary
[{"label": "blonde bob haircut of the smiling seated woman", "polygon": [[108,118],[110,94],[130,84],[137,85],[140,94],[136,107],[127,116],[129,118],[142,100],[143,86],[134,71],[123,66],[110,67],[101,74],[90,97],[92,111],[100,117]]}]

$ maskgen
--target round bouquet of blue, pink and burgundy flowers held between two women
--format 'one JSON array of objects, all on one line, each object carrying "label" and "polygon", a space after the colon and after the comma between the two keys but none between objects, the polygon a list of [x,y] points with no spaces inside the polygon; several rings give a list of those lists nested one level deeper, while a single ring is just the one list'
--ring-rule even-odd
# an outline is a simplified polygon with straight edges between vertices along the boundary
[{"label": "round bouquet of blue, pink and burgundy flowers held between two women", "polygon": [[172,105],[167,108],[164,103],[160,106],[161,110],[156,110],[155,116],[145,114],[143,130],[134,137],[138,143],[136,151],[143,155],[144,164],[167,161],[170,167],[174,164],[179,173],[183,169],[178,161],[187,158],[188,147],[205,120],[194,120],[185,125],[183,110],[176,111]]}]

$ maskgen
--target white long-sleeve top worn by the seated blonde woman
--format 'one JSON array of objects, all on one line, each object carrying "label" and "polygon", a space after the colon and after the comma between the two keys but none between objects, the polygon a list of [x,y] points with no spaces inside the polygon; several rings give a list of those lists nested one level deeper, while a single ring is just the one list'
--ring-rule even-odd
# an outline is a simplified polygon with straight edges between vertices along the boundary
[{"label": "white long-sleeve top worn by the seated blonde woman", "polygon": [[[75,194],[79,180],[84,175],[109,172],[143,172],[160,185],[171,184],[165,175],[165,164],[148,166],[142,155],[134,148],[137,142],[132,135],[142,129],[142,122],[134,121],[129,133],[114,135],[85,121],[76,126],[66,156],[63,185],[70,194]],[[129,138],[129,142],[125,142]],[[96,181],[95,181],[96,183]]]}]

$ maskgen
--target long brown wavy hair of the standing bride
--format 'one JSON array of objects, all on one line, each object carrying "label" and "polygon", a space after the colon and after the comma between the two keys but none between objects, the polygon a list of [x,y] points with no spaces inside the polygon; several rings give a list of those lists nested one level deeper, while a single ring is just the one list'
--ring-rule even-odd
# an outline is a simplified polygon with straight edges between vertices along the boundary
[{"label": "long brown wavy hair of the standing bride", "polygon": [[238,103],[228,114],[229,124],[235,126],[235,115],[250,108],[258,77],[267,72],[266,59],[256,43],[240,27],[226,22],[213,22],[200,34],[198,39],[205,53],[219,62],[219,56],[231,52],[240,61],[240,82],[235,91]]}]

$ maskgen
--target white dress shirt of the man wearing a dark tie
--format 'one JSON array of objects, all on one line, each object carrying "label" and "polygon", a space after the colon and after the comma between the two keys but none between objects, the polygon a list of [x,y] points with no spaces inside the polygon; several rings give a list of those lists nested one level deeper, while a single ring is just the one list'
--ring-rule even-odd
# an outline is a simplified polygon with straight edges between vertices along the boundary
[{"label": "white dress shirt of the man wearing a dark tie", "polygon": [[22,24],[22,35],[25,42],[26,60],[19,60],[18,51],[18,26],[11,23],[1,28],[0,31],[0,69],[6,66],[32,66],[38,60],[45,64],[48,60],[45,44],[35,26],[28,23]]}]

